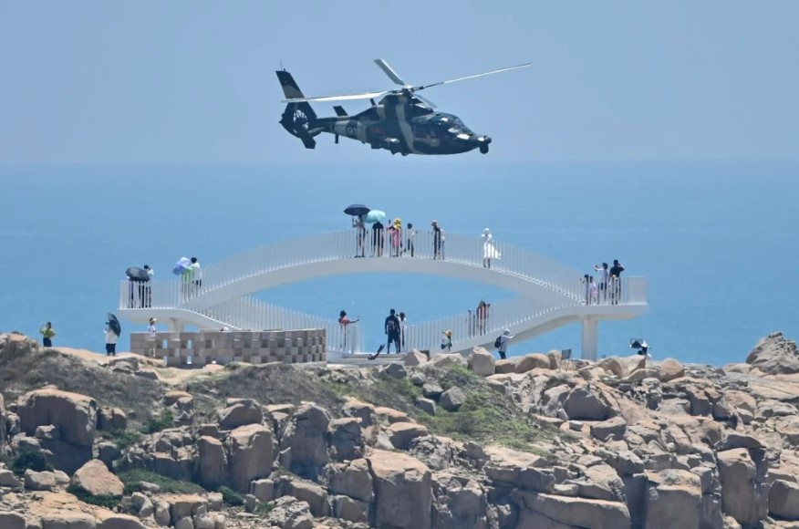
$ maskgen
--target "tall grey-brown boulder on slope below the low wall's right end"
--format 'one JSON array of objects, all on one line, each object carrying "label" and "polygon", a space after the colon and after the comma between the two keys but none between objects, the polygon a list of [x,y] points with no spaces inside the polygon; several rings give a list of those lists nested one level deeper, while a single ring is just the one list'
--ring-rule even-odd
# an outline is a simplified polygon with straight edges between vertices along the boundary
[{"label": "tall grey-brown boulder on slope below the low wall's right end", "polygon": [[327,464],[329,425],[330,414],[312,402],[306,402],[296,410],[280,441],[281,450],[291,449],[293,472],[312,475]]}]

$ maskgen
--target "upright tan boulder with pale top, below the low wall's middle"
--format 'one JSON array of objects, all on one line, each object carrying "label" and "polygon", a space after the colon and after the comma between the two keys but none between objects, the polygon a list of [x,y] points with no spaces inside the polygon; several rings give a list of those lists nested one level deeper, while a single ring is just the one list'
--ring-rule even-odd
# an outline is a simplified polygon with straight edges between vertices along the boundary
[{"label": "upright tan boulder with pale top, below the low wall's middle", "polygon": [[224,443],[230,481],[237,491],[249,492],[250,482],[272,472],[272,430],[261,424],[240,426]]}]

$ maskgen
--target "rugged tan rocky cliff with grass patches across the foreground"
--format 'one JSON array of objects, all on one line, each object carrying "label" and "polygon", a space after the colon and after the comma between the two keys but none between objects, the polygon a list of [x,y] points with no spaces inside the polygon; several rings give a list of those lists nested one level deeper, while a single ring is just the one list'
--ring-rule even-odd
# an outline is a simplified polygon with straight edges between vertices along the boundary
[{"label": "rugged tan rocky cliff with grass patches across the foreground", "polygon": [[99,361],[0,335],[0,528],[799,527],[781,334],[724,368]]}]

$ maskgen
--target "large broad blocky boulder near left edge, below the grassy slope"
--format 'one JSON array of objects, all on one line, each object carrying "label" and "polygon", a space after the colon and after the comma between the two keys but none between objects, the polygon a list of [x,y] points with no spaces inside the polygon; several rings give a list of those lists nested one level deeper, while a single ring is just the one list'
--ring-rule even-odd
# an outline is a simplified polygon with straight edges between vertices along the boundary
[{"label": "large broad blocky boulder near left edge, below the grassy slope", "polygon": [[97,429],[97,403],[91,397],[58,389],[36,389],[17,405],[20,428],[34,435],[39,426],[55,425],[60,439],[80,447],[91,447]]}]

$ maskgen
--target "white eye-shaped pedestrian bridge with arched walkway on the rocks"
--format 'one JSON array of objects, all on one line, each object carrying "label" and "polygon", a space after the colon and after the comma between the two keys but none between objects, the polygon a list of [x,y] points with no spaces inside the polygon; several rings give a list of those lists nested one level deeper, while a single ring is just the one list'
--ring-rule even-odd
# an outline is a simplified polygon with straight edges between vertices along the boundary
[{"label": "white eye-shaped pedestrian bridge with arched walkway on the rocks", "polygon": [[[179,277],[146,284],[123,281],[119,316],[141,325],[146,325],[150,317],[158,317],[176,331],[187,325],[216,330],[325,328],[327,357],[336,360],[374,352],[365,351],[363,329],[358,324],[345,329],[335,318],[302,314],[252,295],[333,275],[440,275],[514,291],[518,296],[492,304],[484,318],[478,318],[472,310],[410,325],[404,329],[405,350],[440,350],[441,333],[447,329],[452,331],[455,351],[476,346],[492,349],[505,328],[517,342],[578,323],[582,327],[582,357],[597,358],[599,321],[632,318],[648,308],[644,277],[622,277],[600,292],[597,301],[586,300],[583,272],[513,244],[494,240],[499,258],[492,259],[487,267],[480,237],[445,233],[436,256],[432,233],[415,233],[410,241],[412,255],[407,237],[402,237],[399,248],[388,240],[380,248],[372,235],[367,232],[363,244],[354,230],[267,244],[204,266],[202,285],[185,284]],[[382,332],[379,337],[385,339]]]}]

